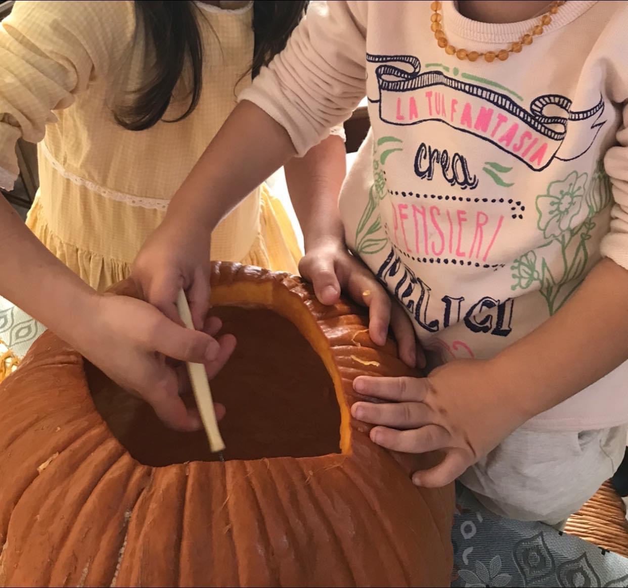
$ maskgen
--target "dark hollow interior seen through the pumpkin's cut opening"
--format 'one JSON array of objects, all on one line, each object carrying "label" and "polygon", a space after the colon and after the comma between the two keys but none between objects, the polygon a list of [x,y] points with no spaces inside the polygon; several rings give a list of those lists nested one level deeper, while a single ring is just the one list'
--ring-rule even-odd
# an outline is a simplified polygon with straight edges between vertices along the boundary
[{"label": "dark hollow interior seen through the pumpkin's cut opening", "polygon": [[[236,351],[212,380],[227,414],[220,431],[225,459],[306,457],[340,452],[340,410],[332,378],[310,343],[287,319],[263,308],[214,307]],[[86,365],[97,410],[139,462],[166,466],[215,461],[205,432],[168,429],[153,410]],[[185,397],[193,404],[193,397]]]}]

